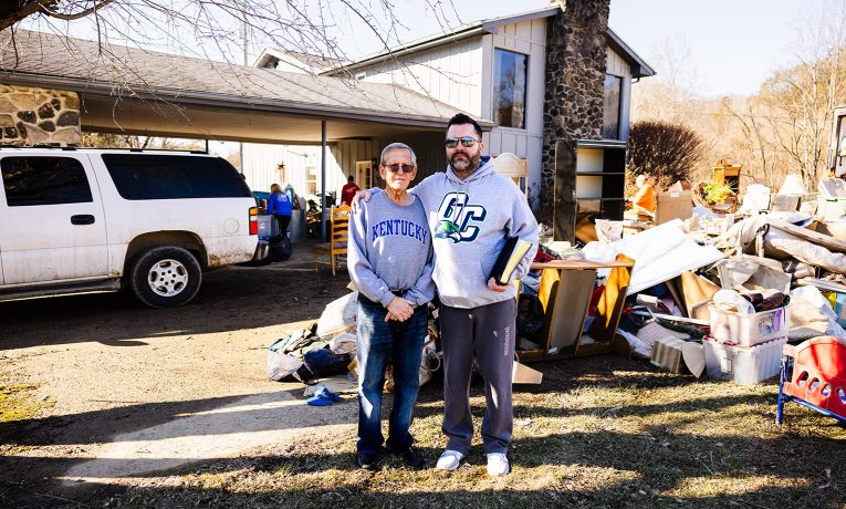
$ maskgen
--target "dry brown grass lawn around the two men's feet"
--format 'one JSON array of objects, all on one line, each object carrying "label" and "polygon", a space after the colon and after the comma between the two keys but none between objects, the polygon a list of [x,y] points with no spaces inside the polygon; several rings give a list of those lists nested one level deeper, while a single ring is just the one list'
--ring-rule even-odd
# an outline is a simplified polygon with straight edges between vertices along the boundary
[{"label": "dry brown grass lawn around the two men's feet", "polygon": [[[165,486],[135,488],[130,507],[844,507],[846,430],[797,405],[774,424],[774,382],[741,387],[657,372],[614,356],[537,365],[539,387],[514,397],[513,471],[489,478],[478,444],[456,472],[385,458],[353,467],[354,434],[314,436],[208,464]],[[481,384],[473,384],[481,420]],[[439,381],[414,425],[432,465],[443,446]],[[352,401],[348,404],[354,404]],[[477,433],[478,435],[478,433]],[[478,438],[477,438],[478,443]]]}]

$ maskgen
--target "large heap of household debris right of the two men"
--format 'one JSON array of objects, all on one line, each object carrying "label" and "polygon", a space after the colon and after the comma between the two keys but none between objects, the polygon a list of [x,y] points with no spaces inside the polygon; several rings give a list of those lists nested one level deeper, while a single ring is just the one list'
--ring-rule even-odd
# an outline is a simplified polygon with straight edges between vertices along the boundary
[{"label": "large heap of household debris right of the two men", "polygon": [[[634,259],[615,308],[620,312],[609,315],[617,333],[613,350],[673,372],[756,383],[779,374],[788,342],[846,339],[846,183],[823,179],[817,207],[796,180],[790,176],[779,194],[750,186],[734,214],[688,200],[676,219],[657,226],[597,221],[599,240],[555,258],[596,263],[595,291],[609,273],[600,263],[620,254]],[[550,270],[549,263],[535,267]],[[588,333],[592,308],[586,303],[579,334]],[[549,349],[552,339],[544,344],[543,335],[564,311],[550,312],[540,341],[532,321],[537,314],[523,316],[533,326],[519,322],[519,335]],[[577,355],[577,347],[571,353]]]}]

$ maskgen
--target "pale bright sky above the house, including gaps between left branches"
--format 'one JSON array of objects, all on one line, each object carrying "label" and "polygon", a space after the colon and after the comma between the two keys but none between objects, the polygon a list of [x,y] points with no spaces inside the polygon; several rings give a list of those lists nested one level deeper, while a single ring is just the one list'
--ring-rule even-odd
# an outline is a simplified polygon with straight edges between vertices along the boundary
[{"label": "pale bright sky above the house, including gaps between left branches", "polygon": [[[330,22],[336,24],[334,35],[345,56],[358,58],[382,48],[376,34],[341,0],[299,1],[312,9],[316,4],[330,6],[326,12]],[[385,21],[380,1],[394,6],[398,23]],[[394,41],[410,41],[462,23],[549,6],[547,0],[352,0],[352,3],[370,6],[376,18],[382,19],[377,21],[379,33]],[[432,3],[441,4],[440,15],[428,7]],[[284,2],[276,0],[276,4]],[[612,0],[609,25],[659,75],[680,76],[706,96],[749,95],[773,71],[797,61],[797,33],[802,27],[814,27],[823,13],[843,19],[844,12],[846,0]],[[814,19],[817,21],[808,21]],[[77,22],[69,32],[93,39],[91,27],[92,23]],[[191,42],[166,48],[167,42],[163,42],[166,39],[150,42],[157,44],[153,49],[185,53],[196,48]],[[267,42],[253,37],[248,61],[253,62],[264,45]],[[230,61],[240,62],[243,58],[240,50],[232,54]]]}]

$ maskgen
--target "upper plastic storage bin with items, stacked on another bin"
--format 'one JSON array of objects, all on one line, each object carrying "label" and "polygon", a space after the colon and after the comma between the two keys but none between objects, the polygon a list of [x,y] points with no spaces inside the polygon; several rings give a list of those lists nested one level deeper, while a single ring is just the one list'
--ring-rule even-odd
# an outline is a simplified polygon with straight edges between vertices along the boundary
[{"label": "upper plastic storage bin with items, stacked on another bin", "polygon": [[754,346],[787,337],[788,308],[790,305],[786,305],[771,311],[743,314],[711,305],[711,337],[721,343],[734,343],[740,346]]}]

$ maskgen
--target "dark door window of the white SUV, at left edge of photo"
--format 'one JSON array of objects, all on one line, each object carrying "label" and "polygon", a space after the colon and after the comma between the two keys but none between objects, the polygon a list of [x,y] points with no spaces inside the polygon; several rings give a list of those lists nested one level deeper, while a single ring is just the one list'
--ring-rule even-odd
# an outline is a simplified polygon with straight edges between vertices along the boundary
[{"label": "dark door window of the white SUV, at left edge of photo", "polygon": [[0,168],[10,207],[93,201],[85,168],[71,157],[4,157]]}]

